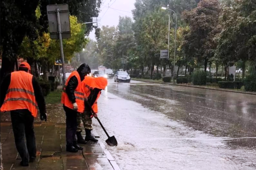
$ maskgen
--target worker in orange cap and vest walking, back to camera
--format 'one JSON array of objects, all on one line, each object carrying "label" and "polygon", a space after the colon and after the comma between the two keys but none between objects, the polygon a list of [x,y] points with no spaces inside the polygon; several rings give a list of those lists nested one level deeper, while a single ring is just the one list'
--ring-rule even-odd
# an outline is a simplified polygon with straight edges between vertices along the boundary
[{"label": "worker in orange cap and vest walking, back to camera", "polygon": [[19,71],[8,74],[1,84],[1,112],[11,112],[12,129],[21,157],[21,166],[29,166],[29,162],[36,159],[33,122],[37,112],[40,112],[42,121],[47,120],[43,92],[30,72],[30,65],[23,62]]}]

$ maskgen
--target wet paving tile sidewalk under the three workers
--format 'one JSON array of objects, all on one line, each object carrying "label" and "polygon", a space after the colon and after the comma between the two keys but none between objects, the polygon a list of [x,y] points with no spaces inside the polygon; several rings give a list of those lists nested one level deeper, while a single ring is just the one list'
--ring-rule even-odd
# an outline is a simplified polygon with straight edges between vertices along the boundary
[{"label": "wet paving tile sidewalk under the three workers", "polygon": [[[21,167],[10,121],[1,121],[1,143],[4,170],[119,170],[105,145],[88,143],[83,151],[66,152],[64,123],[34,124],[37,159],[28,167]],[[84,135],[84,134],[83,134]]]}]

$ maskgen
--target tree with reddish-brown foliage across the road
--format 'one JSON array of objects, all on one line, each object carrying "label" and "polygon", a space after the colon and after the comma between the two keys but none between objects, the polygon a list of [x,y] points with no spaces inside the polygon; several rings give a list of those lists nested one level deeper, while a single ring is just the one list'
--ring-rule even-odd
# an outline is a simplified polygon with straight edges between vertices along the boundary
[{"label": "tree with reddish-brown foliage across the road", "polygon": [[184,20],[190,27],[185,35],[185,52],[194,57],[196,63],[204,61],[204,71],[214,55],[214,39],[218,33],[220,6],[218,0],[202,0],[192,11],[184,12]]}]

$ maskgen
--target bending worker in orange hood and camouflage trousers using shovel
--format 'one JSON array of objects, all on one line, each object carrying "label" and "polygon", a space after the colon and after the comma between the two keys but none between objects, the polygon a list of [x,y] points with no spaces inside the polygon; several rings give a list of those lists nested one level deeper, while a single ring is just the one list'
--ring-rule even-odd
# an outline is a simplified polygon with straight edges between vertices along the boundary
[{"label": "bending worker in orange hood and camouflage trousers using shovel", "polygon": [[[85,77],[84,81],[82,82],[82,87],[84,88],[85,93],[85,100],[88,101],[89,105],[92,106],[93,111],[97,114],[98,113],[98,104],[97,100],[100,97],[101,90],[104,90],[108,85],[108,80],[106,78],[94,78],[94,77]],[[84,102],[85,109],[84,113],[77,116],[77,142],[80,144],[85,144],[86,141],[93,141],[98,142],[92,134],[92,117],[97,115],[92,115],[91,109],[87,105],[87,102]],[[81,119],[84,124],[85,129],[85,138],[83,139],[81,132]]]}]

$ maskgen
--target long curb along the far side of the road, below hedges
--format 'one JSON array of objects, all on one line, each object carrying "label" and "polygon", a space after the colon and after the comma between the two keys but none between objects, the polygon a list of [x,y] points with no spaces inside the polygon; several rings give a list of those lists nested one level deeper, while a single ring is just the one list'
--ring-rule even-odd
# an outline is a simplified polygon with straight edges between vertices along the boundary
[{"label": "long curb along the far side of the road, below hedges", "polygon": [[241,91],[236,91],[236,90],[216,89],[216,88],[200,87],[200,86],[194,86],[194,85],[180,85],[180,84],[164,83],[164,82],[161,83],[161,82],[152,82],[152,81],[147,81],[147,80],[134,80],[134,81],[142,81],[142,82],[155,83],[155,84],[167,84],[167,85],[183,86],[183,87],[192,87],[192,88],[206,89],[206,90],[216,90],[216,91],[222,91],[222,92],[234,92],[234,93],[242,93],[242,94],[256,95],[255,92],[241,92]]}]

